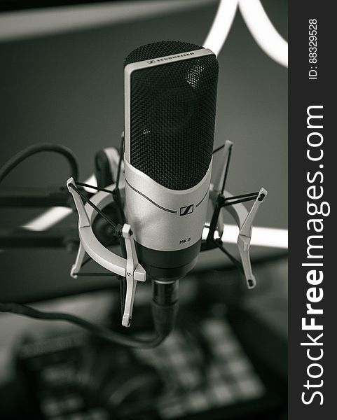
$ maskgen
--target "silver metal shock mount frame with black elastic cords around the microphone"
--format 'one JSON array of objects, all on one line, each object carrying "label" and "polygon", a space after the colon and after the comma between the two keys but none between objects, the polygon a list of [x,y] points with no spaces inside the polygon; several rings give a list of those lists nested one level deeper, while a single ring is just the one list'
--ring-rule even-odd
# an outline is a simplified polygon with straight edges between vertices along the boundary
[{"label": "silver metal shock mount frame with black elastic cords around the microphone", "polygon": [[[211,222],[205,225],[204,234],[202,235],[203,239],[201,251],[206,251],[216,247],[220,248],[223,253],[228,255],[228,258],[230,258],[235,265],[242,269],[242,273],[246,279],[247,288],[250,289],[256,286],[256,279],[252,271],[252,263],[249,256],[252,228],[256,213],[268,193],[265,188],[260,188],[258,193],[233,196],[225,190],[232,148],[233,144],[231,141],[226,141],[223,147],[216,150],[220,151],[220,149],[222,149],[221,160],[223,165],[221,165],[221,171],[216,177],[216,183],[211,184],[209,188],[209,201],[212,203],[214,211]],[[80,239],[76,261],[71,267],[70,275],[74,279],[81,275],[80,270],[83,265],[85,255],[88,254],[92,260],[95,260],[109,272],[126,279],[122,325],[129,327],[132,318],[132,309],[135,302],[137,281],[146,281],[146,271],[138,261],[132,227],[128,223],[123,223],[123,225],[118,225],[118,227],[116,227],[118,228],[116,232],[125,243],[125,258],[109,251],[108,248],[98,241],[92,230],[92,224],[95,221],[98,212],[101,212],[106,206],[114,202],[114,198],[116,199],[116,193],[118,193],[118,201],[115,200],[116,205],[119,207],[123,205],[121,200],[124,189],[124,180],[122,176],[122,153],[120,153],[118,157],[118,153],[116,153],[116,149],[114,148],[106,148],[104,149],[104,153],[107,157],[106,162],[109,162],[111,179],[117,178],[116,183],[104,186],[104,188],[92,187],[98,191],[90,198],[90,200],[86,200],[87,202],[84,204],[82,201],[83,197],[79,194],[78,189],[76,187],[74,188],[74,186],[76,186],[76,181],[73,178],[69,178],[67,181],[67,188],[74,199],[76,210],[78,212],[78,235]],[[81,183],[78,183],[78,185],[80,184]],[[121,188],[119,184],[121,184]],[[252,209],[247,211],[243,202],[250,200],[254,200],[254,204]],[[239,227],[237,246],[241,261],[236,260],[223,246],[223,241],[221,240],[221,235],[223,234],[223,209],[226,209],[229,214],[233,216],[235,223],[237,223]],[[123,208],[120,208],[119,212],[120,214],[123,214]],[[216,234],[218,234],[218,237],[216,237]],[[102,273],[91,274],[97,276],[102,275]]]}]

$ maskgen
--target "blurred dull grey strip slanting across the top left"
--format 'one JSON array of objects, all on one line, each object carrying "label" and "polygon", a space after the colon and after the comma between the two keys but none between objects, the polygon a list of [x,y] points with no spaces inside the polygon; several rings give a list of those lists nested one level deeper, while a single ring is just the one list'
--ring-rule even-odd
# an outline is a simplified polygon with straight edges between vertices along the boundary
[{"label": "blurred dull grey strip slanting across the top left", "polygon": [[[61,34],[154,15],[176,13],[213,3],[214,0],[116,1],[55,8],[15,10],[0,15],[0,40],[11,41],[48,34]],[[128,29],[126,29],[128,31]]]}]

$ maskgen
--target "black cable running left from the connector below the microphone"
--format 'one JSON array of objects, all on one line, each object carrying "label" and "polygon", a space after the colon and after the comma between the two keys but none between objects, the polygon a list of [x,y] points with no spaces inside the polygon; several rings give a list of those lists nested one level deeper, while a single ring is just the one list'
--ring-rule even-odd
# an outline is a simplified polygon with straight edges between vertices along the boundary
[{"label": "black cable running left from the connector below the microphone", "polygon": [[0,312],[11,312],[11,314],[18,314],[22,316],[28,316],[29,318],[43,319],[48,321],[67,321],[92,332],[102,339],[106,339],[107,341],[113,342],[115,344],[120,344],[121,346],[151,349],[152,347],[158,346],[158,344],[163,342],[165,337],[167,337],[164,332],[159,332],[155,337],[147,340],[127,337],[72,314],[65,314],[62,312],[43,312],[27,305],[18,303],[0,303]]}]

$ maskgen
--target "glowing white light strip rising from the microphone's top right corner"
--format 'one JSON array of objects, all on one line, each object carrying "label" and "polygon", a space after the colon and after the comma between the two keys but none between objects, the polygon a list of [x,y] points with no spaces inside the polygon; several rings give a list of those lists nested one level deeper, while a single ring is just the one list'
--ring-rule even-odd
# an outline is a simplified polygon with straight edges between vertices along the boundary
[{"label": "glowing white light strip rising from the microphone's top right corner", "polygon": [[238,0],[221,0],[219,3],[213,25],[209,29],[206,41],[203,43],[204,47],[212,50],[215,55],[219,55],[226,41],[237,8]]}]

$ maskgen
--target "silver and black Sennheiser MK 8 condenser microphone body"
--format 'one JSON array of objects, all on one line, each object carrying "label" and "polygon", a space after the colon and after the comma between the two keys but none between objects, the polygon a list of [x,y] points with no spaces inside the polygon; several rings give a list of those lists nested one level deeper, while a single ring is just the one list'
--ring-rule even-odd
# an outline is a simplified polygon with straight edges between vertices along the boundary
[{"label": "silver and black Sennheiser MK 8 condenser microphone body", "polygon": [[219,66],[211,50],[161,41],[125,59],[125,207],[137,255],[163,281],[200,252]]}]

